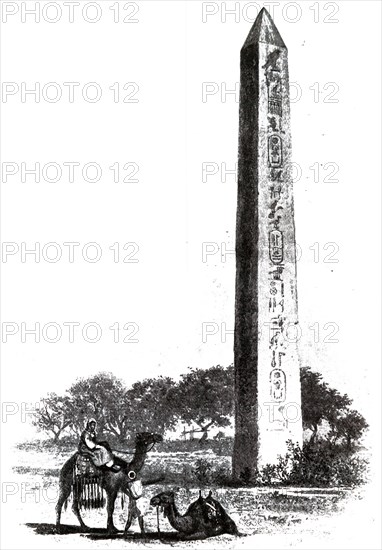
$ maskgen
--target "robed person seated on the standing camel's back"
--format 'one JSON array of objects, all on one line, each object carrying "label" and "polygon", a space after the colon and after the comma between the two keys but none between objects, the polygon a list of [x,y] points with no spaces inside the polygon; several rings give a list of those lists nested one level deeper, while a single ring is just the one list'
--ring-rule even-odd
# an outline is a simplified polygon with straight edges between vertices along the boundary
[{"label": "robed person seated on the standing camel's back", "polygon": [[94,466],[98,468],[106,467],[112,472],[119,472],[121,466],[115,463],[116,457],[111,452],[109,443],[107,441],[97,441],[96,426],[97,421],[94,418],[87,421],[86,428],[81,434],[78,451],[82,455],[90,456]]}]

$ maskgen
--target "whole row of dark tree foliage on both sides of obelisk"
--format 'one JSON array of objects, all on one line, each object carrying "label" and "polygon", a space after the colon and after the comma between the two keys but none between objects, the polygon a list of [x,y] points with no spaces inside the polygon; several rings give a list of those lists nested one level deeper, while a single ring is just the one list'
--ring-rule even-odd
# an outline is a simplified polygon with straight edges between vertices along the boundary
[{"label": "whole row of dark tree foliage on both sides of obelisk", "polygon": [[[331,388],[320,373],[309,367],[301,369],[301,390],[303,426],[311,431],[307,450],[321,449],[320,427],[327,423],[326,442],[331,448],[339,445],[344,447],[344,452],[352,452],[368,425],[359,412],[350,408],[351,399]],[[57,442],[69,434],[77,439],[86,420],[95,417],[98,433],[116,441],[117,446],[138,431],[163,434],[178,421],[196,424],[203,433],[200,440],[162,444],[166,448],[178,446],[178,450],[184,452],[205,444],[212,427],[229,426],[233,412],[234,368],[216,365],[206,370],[190,368],[178,382],[159,376],[136,382],[130,388],[112,373],[100,372],[80,378],[63,396],[48,394],[36,411],[33,423],[39,430],[53,435]],[[231,454],[232,440],[221,430],[211,448],[217,455]],[[318,456],[317,461],[320,461]],[[264,479],[271,479],[272,475],[270,470],[263,472]]]}]

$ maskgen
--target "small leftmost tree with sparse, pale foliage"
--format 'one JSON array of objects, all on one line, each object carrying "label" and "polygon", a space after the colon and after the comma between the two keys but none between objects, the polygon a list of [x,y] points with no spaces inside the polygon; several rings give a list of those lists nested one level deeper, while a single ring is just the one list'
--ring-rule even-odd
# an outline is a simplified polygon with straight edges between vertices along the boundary
[{"label": "small leftmost tree with sparse, pale foliage", "polygon": [[41,400],[41,406],[36,410],[32,424],[41,431],[52,433],[54,441],[58,441],[72,421],[72,405],[69,396],[49,393]]}]

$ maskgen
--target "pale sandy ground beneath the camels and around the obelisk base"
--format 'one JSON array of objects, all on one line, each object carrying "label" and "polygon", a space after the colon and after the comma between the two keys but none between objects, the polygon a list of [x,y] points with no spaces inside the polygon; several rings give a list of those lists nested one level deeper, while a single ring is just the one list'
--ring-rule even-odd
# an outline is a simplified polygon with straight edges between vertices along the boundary
[{"label": "pale sandy ground beneath the camels and around the obelisk base", "polygon": [[[228,457],[209,459],[225,465]],[[70,455],[69,455],[70,456]],[[206,453],[203,454],[206,456]],[[151,485],[145,488],[145,524],[149,533],[142,539],[136,523],[131,528],[128,540],[122,533],[110,538],[104,527],[106,511],[93,510],[83,514],[91,527],[88,533],[80,533],[70,503],[63,513],[66,526],[62,534],[54,528],[54,506],[57,500],[58,472],[68,458],[67,452],[15,451],[8,477],[3,475],[3,529],[2,548],[133,548],[144,543],[146,547],[171,544],[178,548],[362,548],[365,530],[370,535],[375,526],[372,508],[365,515],[370,490],[350,489],[304,489],[304,488],[218,488],[213,487],[213,496],[226,508],[236,522],[240,538],[224,535],[198,542],[177,540],[167,520],[160,518],[157,534],[156,510],[149,506],[150,498],[163,490],[174,489],[174,484]],[[147,473],[155,471],[158,463],[165,462],[168,470],[182,471],[184,464],[192,465],[195,453],[151,452]],[[145,472],[143,471],[143,478]],[[197,498],[199,487],[184,488],[178,484],[176,502],[183,513]],[[370,488],[369,488],[370,489]],[[207,493],[209,487],[203,488]],[[6,515],[5,515],[6,514]],[[18,518],[18,525],[4,518]],[[117,499],[115,523],[123,528],[126,506],[121,508]],[[369,540],[369,537],[366,537]],[[367,548],[373,548],[367,546]],[[377,548],[377,546],[375,546]]]}]

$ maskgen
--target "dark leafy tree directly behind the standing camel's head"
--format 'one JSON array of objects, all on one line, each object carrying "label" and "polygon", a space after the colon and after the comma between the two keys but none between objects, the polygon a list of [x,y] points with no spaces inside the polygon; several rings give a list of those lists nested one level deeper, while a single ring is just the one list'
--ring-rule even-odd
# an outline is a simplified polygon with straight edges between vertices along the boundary
[{"label": "dark leafy tree directly behind the standing camel's head", "polygon": [[172,378],[159,376],[136,382],[127,392],[134,431],[163,433],[175,425],[176,416],[170,398],[175,387]]}]

